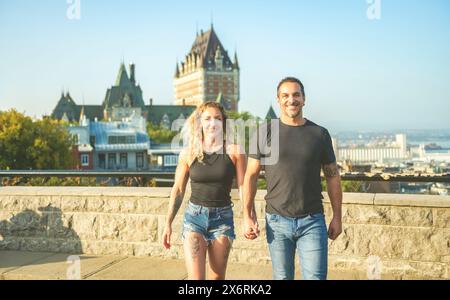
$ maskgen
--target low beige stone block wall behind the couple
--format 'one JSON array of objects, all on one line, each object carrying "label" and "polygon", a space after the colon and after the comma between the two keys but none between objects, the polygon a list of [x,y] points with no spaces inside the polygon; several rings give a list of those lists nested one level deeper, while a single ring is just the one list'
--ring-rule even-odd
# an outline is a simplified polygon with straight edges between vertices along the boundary
[{"label": "low beige stone block wall behind the couple", "polygon": [[[0,250],[183,258],[182,212],[173,247],[161,243],[168,188],[0,188]],[[230,261],[270,264],[265,240],[264,191],[256,210],[262,236],[242,236],[241,204],[233,191],[238,239]],[[188,195],[185,197],[187,199]],[[324,194],[327,224],[331,206]],[[450,197],[344,194],[343,234],[329,241],[330,271],[352,278],[450,279]],[[368,273],[368,270],[370,271]]]}]

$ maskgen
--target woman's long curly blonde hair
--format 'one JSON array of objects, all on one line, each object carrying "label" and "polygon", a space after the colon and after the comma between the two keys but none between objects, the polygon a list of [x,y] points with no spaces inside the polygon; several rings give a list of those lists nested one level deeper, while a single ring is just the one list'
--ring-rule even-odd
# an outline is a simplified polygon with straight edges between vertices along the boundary
[{"label": "woman's long curly blonde hair", "polygon": [[[227,141],[227,115],[225,113],[225,109],[220,103],[217,102],[205,102],[189,116],[186,121],[185,128],[183,129],[184,137],[187,138],[187,146],[188,146],[188,159],[193,162],[196,158],[199,162],[203,161],[203,128],[201,124],[201,115],[208,108],[217,108],[220,110],[222,114],[222,130],[223,130],[223,145],[224,149]],[[186,140],[185,140],[186,141]]]}]

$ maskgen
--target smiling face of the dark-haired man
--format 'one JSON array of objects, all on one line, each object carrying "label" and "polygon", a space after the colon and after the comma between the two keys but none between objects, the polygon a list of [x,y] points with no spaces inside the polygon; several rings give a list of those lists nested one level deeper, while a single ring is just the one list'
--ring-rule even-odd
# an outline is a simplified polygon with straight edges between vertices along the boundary
[{"label": "smiling face of the dark-haired man", "polygon": [[285,82],[278,92],[278,104],[281,113],[289,118],[295,118],[302,112],[305,99],[302,95],[300,85],[296,82]]}]

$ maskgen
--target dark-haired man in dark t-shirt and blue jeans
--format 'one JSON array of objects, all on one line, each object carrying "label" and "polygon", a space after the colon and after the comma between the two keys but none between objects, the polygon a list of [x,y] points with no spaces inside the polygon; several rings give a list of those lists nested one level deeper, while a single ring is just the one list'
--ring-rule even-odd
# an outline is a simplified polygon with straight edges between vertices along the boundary
[{"label": "dark-haired man in dark t-shirt and blue jeans", "polygon": [[[244,235],[255,239],[259,234],[254,197],[264,166],[266,233],[273,278],[294,279],[298,250],[303,279],[324,280],[328,237],[334,240],[342,232],[342,189],[331,137],[325,128],[303,117],[305,91],[300,80],[283,79],[277,88],[277,102],[281,117],[272,122],[278,126],[261,126],[257,153],[249,155],[243,187]],[[261,141],[266,146],[261,146]],[[268,163],[269,152],[278,154],[275,162]],[[322,205],[321,168],[333,209],[328,232]]]}]

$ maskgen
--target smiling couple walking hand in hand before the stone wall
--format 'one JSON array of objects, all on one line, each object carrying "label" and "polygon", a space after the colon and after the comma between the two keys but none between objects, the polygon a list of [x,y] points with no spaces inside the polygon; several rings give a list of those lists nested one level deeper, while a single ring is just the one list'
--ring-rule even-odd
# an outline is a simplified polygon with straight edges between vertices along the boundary
[{"label": "smiling couple walking hand in hand before the stone wall", "polygon": [[[226,141],[227,116],[220,104],[206,102],[187,120],[188,146],[179,156],[162,240],[169,249],[172,223],[190,179],[191,197],[182,229],[188,279],[206,279],[206,253],[208,279],[225,279],[236,238],[230,196],[234,179],[243,201],[244,236],[249,240],[259,236],[254,198],[262,167],[267,180],[266,238],[273,279],[294,279],[296,251],[303,279],[326,279],[328,238],[334,240],[342,232],[342,189],[331,137],[325,128],[303,117],[305,91],[300,80],[284,78],[277,87],[277,102],[280,118],[259,128],[257,137],[266,146],[258,143],[248,161],[239,145]],[[275,161],[273,156],[269,159],[274,153]],[[333,210],[328,229],[321,170]]]}]

